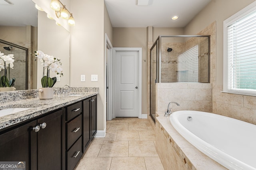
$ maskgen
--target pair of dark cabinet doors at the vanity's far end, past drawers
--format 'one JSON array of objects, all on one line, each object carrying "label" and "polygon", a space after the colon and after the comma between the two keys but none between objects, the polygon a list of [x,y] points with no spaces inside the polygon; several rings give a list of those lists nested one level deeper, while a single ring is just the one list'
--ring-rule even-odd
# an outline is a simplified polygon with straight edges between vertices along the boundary
[{"label": "pair of dark cabinet doors at the vanity's far end, past drawers", "polygon": [[97,96],[83,101],[83,151],[93,140],[97,132]]}]

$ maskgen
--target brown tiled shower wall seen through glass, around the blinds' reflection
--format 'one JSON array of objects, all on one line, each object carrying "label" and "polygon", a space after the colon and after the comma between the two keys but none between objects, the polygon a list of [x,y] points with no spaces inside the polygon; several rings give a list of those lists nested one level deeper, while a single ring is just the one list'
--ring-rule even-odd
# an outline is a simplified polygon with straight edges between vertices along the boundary
[{"label": "brown tiled shower wall seen through glass, around the blinds' reflection", "polygon": [[[168,40],[168,38],[162,39]],[[208,82],[208,38],[206,37],[189,38],[186,42],[162,42],[161,82],[178,82],[178,56],[195,45],[199,46],[198,82]],[[168,52],[168,47],[172,48],[172,51]]]}]

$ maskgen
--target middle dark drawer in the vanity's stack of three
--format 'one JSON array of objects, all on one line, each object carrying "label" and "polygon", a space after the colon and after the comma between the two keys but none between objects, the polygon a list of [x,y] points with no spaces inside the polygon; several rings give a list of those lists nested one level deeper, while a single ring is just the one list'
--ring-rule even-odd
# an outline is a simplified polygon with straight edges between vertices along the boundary
[{"label": "middle dark drawer in the vanity's stack of three", "polygon": [[82,115],[67,123],[67,149],[82,135]]}]

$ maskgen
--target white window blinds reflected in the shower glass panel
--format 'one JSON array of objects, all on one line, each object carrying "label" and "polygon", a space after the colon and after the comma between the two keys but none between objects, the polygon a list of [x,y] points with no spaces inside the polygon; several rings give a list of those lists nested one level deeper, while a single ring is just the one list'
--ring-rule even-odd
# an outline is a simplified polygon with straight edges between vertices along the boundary
[{"label": "white window blinds reflected in the shower glass panel", "polygon": [[198,45],[178,56],[178,82],[198,82]]}]

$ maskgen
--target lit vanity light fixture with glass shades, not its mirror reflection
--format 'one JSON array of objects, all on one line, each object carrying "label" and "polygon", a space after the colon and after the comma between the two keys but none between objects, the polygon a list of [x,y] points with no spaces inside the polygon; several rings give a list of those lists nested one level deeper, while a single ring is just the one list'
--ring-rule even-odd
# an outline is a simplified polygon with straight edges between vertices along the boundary
[{"label": "lit vanity light fixture with glass shades, not its mirror reflection", "polygon": [[[73,14],[68,11],[66,6],[64,4],[62,4],[62,2],[60,2],[60,0],[52,0],[50,7],[53,10],[55,10],[55,14],[56,14],[57,18],[61,17],[61,18],[68,20],[68,24],[70,26],[75,25],[75,20],[73,18]],[[69,17],[69,15],[70,15],[70,17]]]}]

